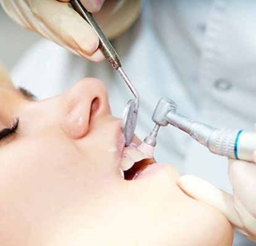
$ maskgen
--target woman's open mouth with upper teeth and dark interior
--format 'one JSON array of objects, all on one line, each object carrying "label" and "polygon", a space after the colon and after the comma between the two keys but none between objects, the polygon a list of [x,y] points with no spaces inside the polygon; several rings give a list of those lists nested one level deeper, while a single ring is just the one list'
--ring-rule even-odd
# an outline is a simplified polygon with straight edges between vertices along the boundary
[{"label": "woman's open mouth with upper teeth and dark interior", "polygon": [[155,163],[155,159],[147,156],[131,143],[123,150],[120,162],[120,171],[123,172],[125,180],[134,180],[146,167]]}]

